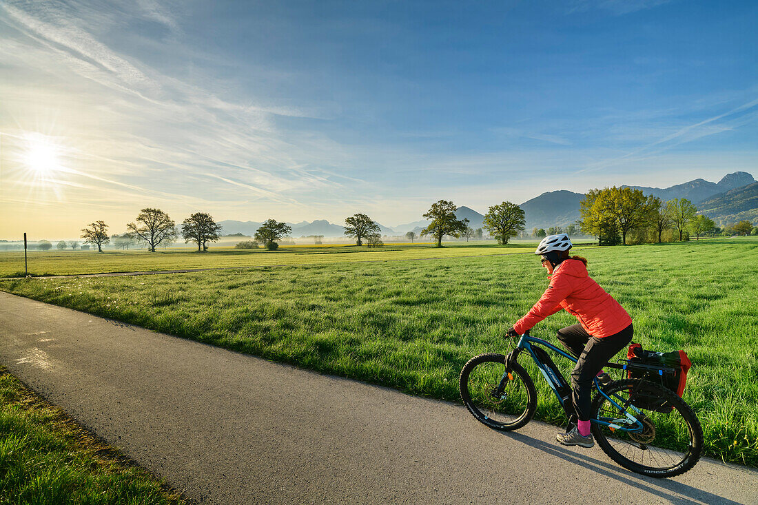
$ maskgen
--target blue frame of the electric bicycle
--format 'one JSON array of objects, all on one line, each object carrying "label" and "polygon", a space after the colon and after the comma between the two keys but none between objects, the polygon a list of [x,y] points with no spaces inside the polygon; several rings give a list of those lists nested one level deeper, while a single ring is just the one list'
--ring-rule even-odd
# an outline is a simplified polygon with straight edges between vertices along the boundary
[{"label": "blue frame of the electric bicycle", "polygon": [[[563,384],[561,384],[561,380],[565,382],[565,378],[563,375],[559,372],[559,370],[551,369],[550,366],[548,366],[545,362],[543,362],[538,356],[537,353],[532,348],[533,344],[540,345],[542,347],[547,347],[547,349],[552,350],[554,353],[558,353],[560,356],[563,356],[564,358],[567,358],[571,360],[572,362],[577,362],[577,359],[566,353],[563,350],[560,350],[558,347],[554,346],[552,343],[548,342],[547,340],[542,340],[541,338],[537,337],[531,337],[531,335],[523,334],[521,338],[518,340],[518,344],[516,345],[515,349],[512,350],[511,353],[509,353],[508,360],[506,363],[510,363],[511,359],[516,359],[519,353],[522,352],[522,350],[526,350],[529,355],[531,356],[531,359],[534,359],[534,363],[537,365],[537,368],[540,369],[540,372],[542,373],[543,377],[547,381],[547,384],[550,386],[550,389],[553,390],[553,394],[556,395],[556,398],[558,398],[558,401],[564,411],[566,412],[567,416],[571,416],[572,412],[569,411],[568,405],[565,404],[565,397],[562,396],[561,390],[564,388]],[[608,366],[612,368],[621,368],[619,365],[615,365],[614,363],[608,363]],[[508,375],[510,373],[509,366],[506,365],[506,373],[503,375],[503,378],[500,379],[500,384],[504,384],[504,381],[507,380]],[[560,378],[556,377],[555,375],[559,375]],[[597,381],[597,377],[594,378],[595,387],[597,387],[597,391],[603,395],[603,397],[606,397],[606,399],[615,405],[621,412],[625,413],[625,419],[609,419],[609,418],[602,418],[602,419],[590,419],[590,422],[593,422],[594,424],[598,425],[605,425],[609,426],[612,429],[619,430],[619,431],[641,431],[644,428],[644,425],[634,416],[632,416],[628,412],[628,408],[631,408],[634,413],[641,414],[642,412],[637,409],[634,405],[628,405],[628,406],[621,406],[619,403],[617,403],[615,400],[613,400],[612,397],[609,397],[605,391],[603,391],[602,387],[600,387],[600,383]],[[570,391],[570,390],[569,390]],[[625,403],[625,401],[618,397],[617,395],[612,395],[613,397],[616,397],[617,400],[621,401],[621,403]]]}]

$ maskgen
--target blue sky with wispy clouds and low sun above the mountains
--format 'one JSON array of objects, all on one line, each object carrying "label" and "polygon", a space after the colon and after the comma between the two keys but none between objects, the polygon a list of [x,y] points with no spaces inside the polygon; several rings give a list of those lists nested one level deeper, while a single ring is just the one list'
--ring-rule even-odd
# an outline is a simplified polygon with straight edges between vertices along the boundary
[{"label": "blue sky with wispy clouds and low sun above the mountains", "polygon": [[[0,2],[0,209],[415,221],[758,161],[756,2]],[[55,169],[30,170],[52,146]],[[20,212],[23,211],[23,212]],[[3,220],[8,221],[8,220]]]}]

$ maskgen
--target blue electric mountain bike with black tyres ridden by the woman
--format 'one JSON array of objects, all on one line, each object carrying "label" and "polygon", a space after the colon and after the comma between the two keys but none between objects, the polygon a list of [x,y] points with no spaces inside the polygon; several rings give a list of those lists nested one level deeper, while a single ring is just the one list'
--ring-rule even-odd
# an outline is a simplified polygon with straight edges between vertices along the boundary
[{"label": "blue electric mountain bike with black tyres ridden by the woman", "polygon": [[[572,389],[543,347],[577,361],[552,343],[528,333],[518,337],[507,356],[485,353],[471,358],[459,379],[461,398],[468,411],[479,422],[499,431],[522,428],[531,421],[537,408],[537,389],[517,362],[518,356],[527,351],[572,423]],[[607,363],[606,368],[634,369],[642,378],[624,378],[607,386],[594,379],[597,394],[592,401],[590,429],[603,452],[626,469],[651,477],[673,477],[691,469],[703,450],[700,421],[675,392],[647,380],[673,369],[623,359]]]}]

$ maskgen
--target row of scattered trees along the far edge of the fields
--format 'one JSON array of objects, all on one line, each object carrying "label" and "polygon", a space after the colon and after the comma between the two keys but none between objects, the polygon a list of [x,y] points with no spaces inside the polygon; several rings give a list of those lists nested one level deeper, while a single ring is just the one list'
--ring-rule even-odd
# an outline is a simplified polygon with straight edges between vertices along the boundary
[{"label": "row of scattered trees along the far edge of the fields", "polygon": [[[482,228],[472,230],[468,226],[468,219],[457,218],[457,210],[458,207],[449,200],[433,203],[423,215],[430,222],[421,230],[421,237],[432,237],[438,247],[442,246],[443,237],[464,237],[467,240],[476,237],[481,240],[484,235]],[[547,231],[534,228],[532,234],[537,238],[559,233],[571,236],[576,233],[578,225],[584,234],[597,237],[600,245],[615,245],[626,244],[628,235],[632,233],[637,234],[637,241],[644,235],[645,240],[653,241],[650,237],[657,237],[660,243],[666,230],[678,231],[679,240],[683,240],[685,232],[691,231],[699,238],[716,229],[711,219],[696,213],[697,207],[688,199],[673,199],[664,205],[656,196],[645,196],[641,190],[627,187],[604,188],[587,193],[581,201],[581,218],[577,224],[569,224],[565,229],[550,227]],[[487,209],[483,227],[497,243],[506,245],[512,237],[525,235],[525,221],[523,209],[515,203],[502,202]],[[356,240],[357,246],[362,246],[364,240],[369,247],[384,245],[381,241],[380,225],[368,215],[358,213],[345,218],[343,228],[344,234]],[[85,243],[97,246],[99,252],[102,252],[102,246],[110,243],[111,239],[117,246],[124,247],[134,242],[144,243],[149,251],[155,252],[155,248],[161,243],[174,243],[178,237],[183,237],[185,243],[196,243],[197,250],[202,252],[208,250],[208,243],[221,238],[221,229],[221,225],[208,213],[195,212],[182,221],[181,229],[178,230],[167,213],[161,209],[146,208],[139,211],[136,219],[127,224],[127,232],[122,235],[109,237],[108,224],[95,221],[83,228],[81,237]],[[731,229],[736,234],[743,235],[758,230],[753,228],[750,221],[741,221]],[[255,240],[240,242],[237,247],[246,249],[258,247],[258,243],[262,243],[266,249],[274,250],[278,248],[280,240],[289,236],[291,232],[292,227],[287,223],[269,218],[255,231]],[[406,237],[411,241],[417,238],[413,231],[409,231]],[[42,243],[44,242],[47,241],[43,240]],[[67,244],[61,240],[58,249],[65,249],[67,246],[76,248],[77,245],[77,242]],[[51,247],[52,244],[49,244],[47,249]]]}]

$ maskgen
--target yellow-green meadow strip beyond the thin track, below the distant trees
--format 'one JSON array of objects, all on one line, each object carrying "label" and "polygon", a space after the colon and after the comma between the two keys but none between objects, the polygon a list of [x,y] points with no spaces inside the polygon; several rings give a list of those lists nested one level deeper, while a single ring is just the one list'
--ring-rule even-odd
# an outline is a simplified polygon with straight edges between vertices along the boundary
[{"label": "yellow-green meadow strip beyond the thin track, below the distant trees", "polygon": [[[366,246],[282,246],[265,249],[168,249],[104,252],[30,251],[29,273],[48,275],[98,274],[124,271],[182,270],[186,268],[251,268],[265,265],[325,265],[335,262],[409,261],[414,259],[488,256],[529,252],[531,243],[496,246],[449,243],[437,248],[429,244],[388,245],[377,249]],[[0,278],[23,277],[23,252],[0,252]]]}]

